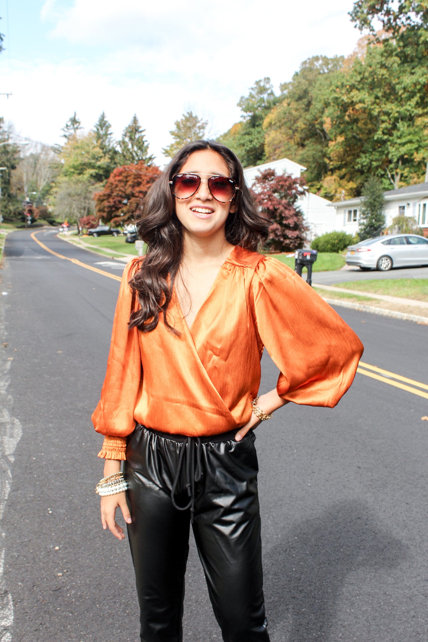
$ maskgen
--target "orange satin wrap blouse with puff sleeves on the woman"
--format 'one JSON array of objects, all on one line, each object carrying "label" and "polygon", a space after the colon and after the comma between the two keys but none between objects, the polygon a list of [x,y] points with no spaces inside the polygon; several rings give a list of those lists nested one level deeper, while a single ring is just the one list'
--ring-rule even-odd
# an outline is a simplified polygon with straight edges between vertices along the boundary
[{"label": "orange satin wrap blouse with puff sleeves on the woman", "polygon": [[277,259],[235,247],[191,326],[176,297],[167,331],[128,331],[141,259],[123,272],[101,400],[92,415],[105,435],[100,457],[126,459],[135,422],[197,437],[243,426],[259,390],[263,348],[280,369],[282,399],[336,406],[354,379],[363,345],[330,306]]}]

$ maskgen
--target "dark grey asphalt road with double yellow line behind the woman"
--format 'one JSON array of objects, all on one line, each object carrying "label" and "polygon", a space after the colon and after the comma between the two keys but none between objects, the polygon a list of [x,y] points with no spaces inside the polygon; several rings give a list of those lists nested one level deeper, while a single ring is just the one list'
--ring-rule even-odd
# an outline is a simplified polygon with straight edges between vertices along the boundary
[{"label": "dark grey asphalt road with double yellow line behind the woman", "polygon": [[[119,288],[111,276],[121,269],[52,230],[37,238],[106,274],[49,254],[28,231],[6,241],[0,640],[137,642],[128,544],[99,523],[102,437],[90,423]],[[424,325],[338,313],[361,337],[364,361],[428,383]],[[262,366],[264,391],[277,369],[267,355]],[[357,374],[333,410],[289,404],[257,429],[272,642],[428,639],[424,415],[427,399]],[[184,639],[221,640],[193,544]]]}]

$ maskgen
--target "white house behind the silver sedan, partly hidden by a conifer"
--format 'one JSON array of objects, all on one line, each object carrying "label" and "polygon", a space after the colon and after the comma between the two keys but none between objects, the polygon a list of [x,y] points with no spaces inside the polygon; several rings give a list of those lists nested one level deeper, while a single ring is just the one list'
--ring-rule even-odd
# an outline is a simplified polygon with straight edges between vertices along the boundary
[{"label": "white house behind the silver sedan, partly hidden by a conifer", "polygon": [[[428,183],[390,189],[384,192],[384,198],[387,227],[395,216],[413,216],[424,230],[424,236],[428,236]],[[336,230],[347,234],[357,232],[362,202],[359,197],[329,204],[336,212]]]}]

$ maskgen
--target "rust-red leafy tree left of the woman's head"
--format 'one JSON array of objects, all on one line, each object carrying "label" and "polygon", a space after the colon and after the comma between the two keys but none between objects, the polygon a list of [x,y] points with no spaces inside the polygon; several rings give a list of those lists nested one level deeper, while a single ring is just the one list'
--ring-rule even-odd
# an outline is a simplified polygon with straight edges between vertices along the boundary
[{"label": "rust-red leafy tree left of the woman's head", "polygon": [[112,225],[133,221],[142,199],[159,175],[156,165],[146,165],[143,160],[114,169],[103,191],[94,195],[98,218]]}]

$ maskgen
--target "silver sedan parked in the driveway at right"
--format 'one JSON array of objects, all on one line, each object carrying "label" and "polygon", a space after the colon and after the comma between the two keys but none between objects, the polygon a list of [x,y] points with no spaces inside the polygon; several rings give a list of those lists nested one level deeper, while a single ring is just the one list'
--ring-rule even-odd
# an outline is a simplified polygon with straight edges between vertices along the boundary
[{"label": "silver sedan parked in the driveway at right", "polygon": [[428,265],[428,239],[417,234],[388,234],[350,245],[347,265],[360,270],[381,270]]}]

